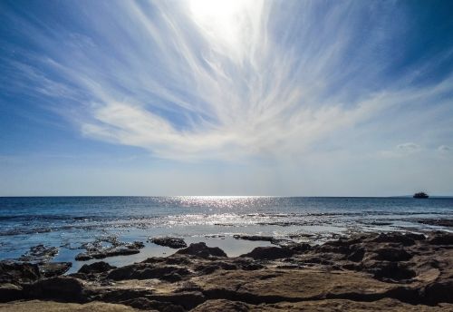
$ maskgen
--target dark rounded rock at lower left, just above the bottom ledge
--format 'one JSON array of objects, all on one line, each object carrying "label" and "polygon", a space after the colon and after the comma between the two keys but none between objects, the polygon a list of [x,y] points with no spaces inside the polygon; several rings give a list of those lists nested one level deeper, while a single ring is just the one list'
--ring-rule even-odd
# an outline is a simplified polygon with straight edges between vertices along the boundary
[{"label": "dark rounded rock at lower left, just above the bottom ledge", "polygon": [[82,281],[77,278],[44,278],[30,285],[24,285],[28,297],[52,299],[63,302],[86,302]]}]

